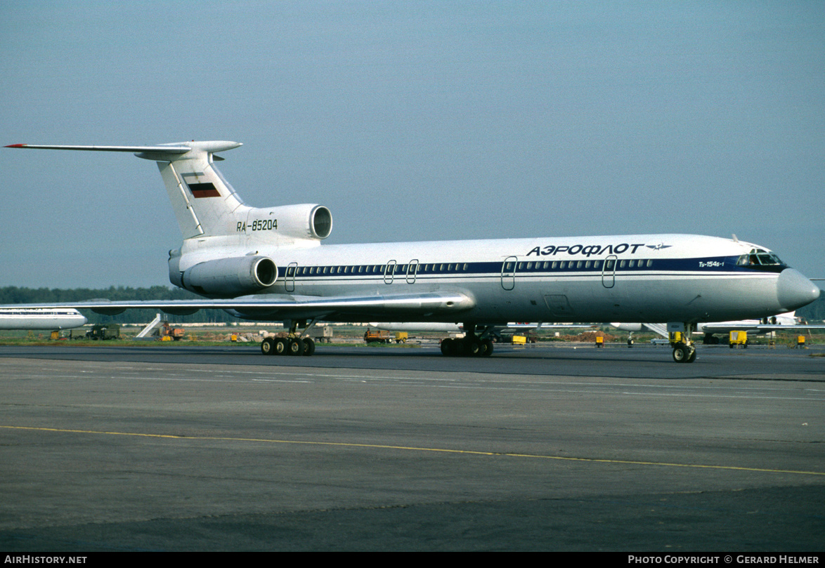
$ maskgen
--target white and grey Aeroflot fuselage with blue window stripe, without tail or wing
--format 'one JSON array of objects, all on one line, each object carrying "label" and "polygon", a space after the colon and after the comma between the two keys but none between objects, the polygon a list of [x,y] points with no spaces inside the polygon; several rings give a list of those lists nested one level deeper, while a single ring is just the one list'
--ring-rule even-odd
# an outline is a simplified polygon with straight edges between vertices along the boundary
[{"label": "white and grey Aeroflot fuselage with blue window stripe, without tail or wing", "polygon": [[[460,292],[473,307],[421,319],[479,323],[710,322],[765,317],[812,301],[818,290],[810,284],[800,291],[804,276],[797,271],[738,264],[752,248],[678,234],[260,247],[257,254],[276,262],[278,276],[256,297]],[[209,260],[214,249],[181,252],[178,267],[185,270]],[[259,310],[238,315],[278,317]],[[392,318],[360,309],[323,319]]]}]

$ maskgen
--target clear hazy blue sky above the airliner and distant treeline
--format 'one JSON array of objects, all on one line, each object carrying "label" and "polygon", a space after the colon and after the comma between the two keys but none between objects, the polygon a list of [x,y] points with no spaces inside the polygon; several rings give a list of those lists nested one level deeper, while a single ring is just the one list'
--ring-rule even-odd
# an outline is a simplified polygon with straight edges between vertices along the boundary
[{"label": "clear hazy blue sky above the airliner and distant treeline", "polygon": [[[825,276],[823,2],[0,2],[11,143],[227,139],[327,242],[687,232]],[[168,284],[157,167],[0,149],[0,285]]]}]

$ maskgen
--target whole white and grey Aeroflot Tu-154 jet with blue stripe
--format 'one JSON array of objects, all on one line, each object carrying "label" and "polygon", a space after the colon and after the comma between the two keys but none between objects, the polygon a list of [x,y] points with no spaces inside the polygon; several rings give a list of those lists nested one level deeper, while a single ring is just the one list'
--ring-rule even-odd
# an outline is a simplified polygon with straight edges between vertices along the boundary
[{"label": "whole white and grey Aeroflot Tu-154 jet with blue stripe", "polygon": [[183,233],[181,247],[169,251],[169,279],[203,298],[60,305],[107,314],[134,307],[172,314],[219,308],[249,320],[284,320],[289,338],[263,340],[262,352],[296,355],[313,354],[313,341],[303,338],[316,322],[461,322],[466,336],[447,353],[455,355],[491,354],[488,328],[512,321],[667,322],[684,338],[673,359],[690,363],[697,322],[770,317],[819,297],[817,286],[774,253],[735,237],[322,246],[332,232],[329,209],[250,207],[224,180],[214,167],[224,158],[215,154],[240,145],[7,147],[127,152],[157,162]]}]

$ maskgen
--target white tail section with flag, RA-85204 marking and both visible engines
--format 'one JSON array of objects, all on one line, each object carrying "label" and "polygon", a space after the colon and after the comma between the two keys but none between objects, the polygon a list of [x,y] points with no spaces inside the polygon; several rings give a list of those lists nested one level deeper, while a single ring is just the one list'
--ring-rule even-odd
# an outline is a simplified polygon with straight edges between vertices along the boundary
[{"label": "white tail section with flag, RA-85204 marking and both visible engines", "polygon": [[[229,298],[257,293],[278,278],[280,246],[318,246],[332,232],[332,214],[317,204],[249,207],[220,175],[215,153],[238,142],[213,140],[157,146],[41,146],[7,148],[131,152],[158,162],[183,244],[169,251],[169,280],[203,296]],[[262,254],[260,251],[268,251]]]}]

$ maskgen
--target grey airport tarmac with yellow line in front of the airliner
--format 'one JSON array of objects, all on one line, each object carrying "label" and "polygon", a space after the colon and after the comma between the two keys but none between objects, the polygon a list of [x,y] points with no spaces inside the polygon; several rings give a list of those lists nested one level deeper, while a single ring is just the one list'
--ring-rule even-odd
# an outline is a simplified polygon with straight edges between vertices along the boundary
[{"label": "grey airport tarmac with yellow line in front of the airliner", "polygon": [[0,347],[0,549],[825,549],[814,350]]}]

